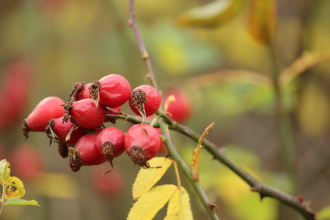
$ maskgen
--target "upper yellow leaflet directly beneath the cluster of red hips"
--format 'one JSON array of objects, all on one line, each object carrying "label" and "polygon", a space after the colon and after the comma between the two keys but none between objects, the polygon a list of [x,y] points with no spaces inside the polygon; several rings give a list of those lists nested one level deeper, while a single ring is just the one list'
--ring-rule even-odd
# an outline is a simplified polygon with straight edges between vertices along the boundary
[{"label": "upper yellow leaflet directly beneath the cluster of red hips", "polygon": [[148,162],[151,167],[162,166],[162,168],[141,168],[133,184],[133,199],[142,197],[148,192],[162,178],[170,164],[173,163],[172,160],[165,157],[155,157]]}]

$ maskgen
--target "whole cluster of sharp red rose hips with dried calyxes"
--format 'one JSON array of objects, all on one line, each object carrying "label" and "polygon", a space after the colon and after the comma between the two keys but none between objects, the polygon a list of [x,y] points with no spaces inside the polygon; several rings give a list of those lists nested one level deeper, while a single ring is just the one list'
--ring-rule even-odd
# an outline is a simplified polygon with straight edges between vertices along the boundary
[{"label": "whole cluster of sharp red rose hips with dried calyxes", "polygon": [[[126,135],[120,129],[108,127],[108,114],[124,114],[121,106],[129,100],[129,106],[145,118],[153,115],[161,104],[158,91],[142,85],[131,91],[129,82],[118,74],[104,76],[94,83],[74,84],[72,94],[65,104],[61,98],[48,97],[42,100],[23,120],[25,140],[29,131],[45,131],[58,144],[58,153],[67,157],[69,166],[76,172],[81,166],[102,164],[106,161],[113,166],[113,158],[125,150],[135,164],[148,168],[161,140],[159,133],[148,124],[135,124]],[[87,130],[100,133],[86,133]]]}]

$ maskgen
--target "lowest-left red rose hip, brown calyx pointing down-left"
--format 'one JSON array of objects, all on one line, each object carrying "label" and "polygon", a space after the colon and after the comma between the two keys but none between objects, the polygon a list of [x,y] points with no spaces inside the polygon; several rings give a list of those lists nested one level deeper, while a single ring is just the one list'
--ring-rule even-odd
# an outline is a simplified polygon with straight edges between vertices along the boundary
[{"label": "lowest-left red rose hip, brown calyx pointing down-left", "polygon": [[90,133],[80,137],[74,148],[69,147],[69,166],[72,171],[77,172],[81,166],[91,166],[103,164],[107,158],[98,151],[96,146],[96,133]]}]

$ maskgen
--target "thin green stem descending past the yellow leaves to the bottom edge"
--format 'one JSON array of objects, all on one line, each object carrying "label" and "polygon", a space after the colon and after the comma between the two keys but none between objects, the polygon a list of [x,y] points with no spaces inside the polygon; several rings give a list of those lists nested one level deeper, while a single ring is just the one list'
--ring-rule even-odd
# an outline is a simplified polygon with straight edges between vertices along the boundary
[{"label": "thin green stem descending past the yellow leaves to the bottom edge", "polygon": [[201,185],[199,184],[199,180],[192,180],[192,173],[188,166],[184,163],[183,159],[180,157],[179,153],[177,153],[177,150],[173,146],[172,142],[170,141],[170,138],[168,137],[168,132],[166,130],[166,123],[164,122],[164,119],[161,118],[159,120],[160,128],[162,129],[162,133],[164,135],[165,140],[163,140],[164,144],[166,145],[168,152],[170,153],[171,157],[175,159],[175,162],[177,162],[177,165],[181,168],[181,170],[184,171],[184,174],[188,178],[188,181],[193,186],[193,188],[196,190],[197,195],[199,196],[199,200],[201,200],[201,203],[203,204],[204,208],[208,212],[208,215],[211,219],[218,219],[217,214],[212,210],[212,205],[210,206],[210,203],[208,201],[208,198],[205,195],[205,192],[201,188]]}]

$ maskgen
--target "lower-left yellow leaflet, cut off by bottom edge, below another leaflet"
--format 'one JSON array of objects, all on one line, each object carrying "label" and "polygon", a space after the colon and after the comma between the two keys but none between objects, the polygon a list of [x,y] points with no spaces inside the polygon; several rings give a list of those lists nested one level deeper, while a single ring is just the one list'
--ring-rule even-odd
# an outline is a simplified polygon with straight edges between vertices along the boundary
[{"label": "lower-left yellow leaflet, cut off by bottom edge, below another leaflet", "polygon": [[165,206],[168,200],[177,191],[177,186],[156,186],[134,203],[127,220],[153,219],[157,212]]}]

